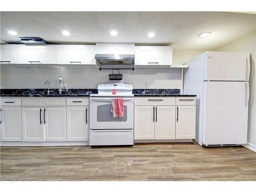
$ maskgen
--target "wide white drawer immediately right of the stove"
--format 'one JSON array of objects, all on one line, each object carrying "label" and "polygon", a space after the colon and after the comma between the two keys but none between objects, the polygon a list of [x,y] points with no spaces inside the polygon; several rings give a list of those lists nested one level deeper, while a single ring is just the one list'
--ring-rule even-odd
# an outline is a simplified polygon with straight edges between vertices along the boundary
[{"label": "wide white drawer immediately right of the stove", "polygon": [[139,97],[134,105],[175,105],[175,97]]}]

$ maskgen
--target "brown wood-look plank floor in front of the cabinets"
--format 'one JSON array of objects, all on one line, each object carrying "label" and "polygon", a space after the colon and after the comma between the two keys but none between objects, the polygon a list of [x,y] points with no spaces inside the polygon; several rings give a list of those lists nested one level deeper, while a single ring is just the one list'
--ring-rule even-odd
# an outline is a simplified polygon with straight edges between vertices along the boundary
[{"label": "brown wood-look plank floor in front of the cabinets", "polygon": [[256,153],[194,144],[1,147],[1,180],[256,181]]}]

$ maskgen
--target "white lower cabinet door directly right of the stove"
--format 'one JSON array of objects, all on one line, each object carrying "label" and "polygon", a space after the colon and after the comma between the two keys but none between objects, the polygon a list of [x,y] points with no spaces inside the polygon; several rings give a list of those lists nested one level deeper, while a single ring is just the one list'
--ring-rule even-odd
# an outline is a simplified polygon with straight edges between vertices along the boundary
[{"label": "white lower cabinet door directly right of the stove", "polygon": [[155,139],[154,106],[134,106],[134,139]]}]

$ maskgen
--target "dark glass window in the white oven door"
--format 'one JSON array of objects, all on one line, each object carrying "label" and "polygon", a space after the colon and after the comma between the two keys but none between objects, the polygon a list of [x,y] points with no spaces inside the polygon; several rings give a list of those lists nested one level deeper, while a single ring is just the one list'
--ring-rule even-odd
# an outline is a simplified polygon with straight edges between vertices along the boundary
[{"label": "dark glass window in the white oven door", "polygon": [[111,104],[101,104],[97,106],[97,122],[123,122],[127,121],[127,106],[124,105],[123,117],[113,118],[111,113]]}]

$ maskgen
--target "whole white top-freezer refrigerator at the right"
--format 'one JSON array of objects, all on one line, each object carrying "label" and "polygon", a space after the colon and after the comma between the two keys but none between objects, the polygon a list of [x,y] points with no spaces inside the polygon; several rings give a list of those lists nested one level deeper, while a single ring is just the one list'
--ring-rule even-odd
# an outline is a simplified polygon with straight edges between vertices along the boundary
[{"label": "whole white top-freezer refrigerator at the right", "polygon": [[197,94],[201,146],[247,143],[249,53],[207,51],[185,63],[184,94]]}]

